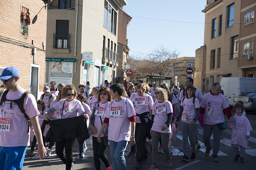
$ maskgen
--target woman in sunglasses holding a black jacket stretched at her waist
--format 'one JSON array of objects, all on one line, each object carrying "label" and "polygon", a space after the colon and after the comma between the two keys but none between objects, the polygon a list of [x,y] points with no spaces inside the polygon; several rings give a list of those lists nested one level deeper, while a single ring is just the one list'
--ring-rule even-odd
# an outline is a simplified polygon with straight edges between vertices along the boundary
[{"label": "woman in sunglasses holding a black jacket stretched at her waist", "polygon": [[[75,86],[73,86],[72,84],[68,84],[65,87],[63,87],[61,90],[61,96],[64,99],[61,99],[59,102],[54,104],[44,113],[44,120],[48,120],[48,115],[58,110],[61,110],[60,119],[76,117],[79,116],[79,114],[84,115],[85,119],[89,117],[87,114],[85,114],[81,102],[75,99],[75,97],[77,97]],[[63,138],[63,141],[56,142],[56,154],[62,160],[62,162],[66,164],[66,170],[70,170],[74,164],[72,162],[72,146],[75,142],[75,139],[76,137]],[[66,156],[64,156],[63,154],[64,147]]]}]

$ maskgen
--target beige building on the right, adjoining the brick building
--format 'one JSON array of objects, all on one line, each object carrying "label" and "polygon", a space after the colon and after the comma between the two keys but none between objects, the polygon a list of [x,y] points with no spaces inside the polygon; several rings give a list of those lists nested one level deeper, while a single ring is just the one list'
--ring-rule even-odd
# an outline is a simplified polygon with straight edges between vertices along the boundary
[{"label": "beige building on the right, adjoining the brick building", "polygon": [[238,69],[241,0],[207,0],[204,46],[196,50],[194,84],[201,91],[222,77],[242,77]]}]

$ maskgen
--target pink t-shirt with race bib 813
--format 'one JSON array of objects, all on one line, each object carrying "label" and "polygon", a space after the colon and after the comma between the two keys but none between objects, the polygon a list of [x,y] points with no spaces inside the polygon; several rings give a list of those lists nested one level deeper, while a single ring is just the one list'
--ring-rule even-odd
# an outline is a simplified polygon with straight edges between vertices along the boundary
[{"label": "pink t-shirt with race bib 813", "polygon": [[104,116],[109,118],[108,139],[115,142],[120,142],[121,140],[129,141],[131,136],[129,117],[135,115],[131,100],[123,98],[119,102],[115,100],[110,102],[104,113]]}]

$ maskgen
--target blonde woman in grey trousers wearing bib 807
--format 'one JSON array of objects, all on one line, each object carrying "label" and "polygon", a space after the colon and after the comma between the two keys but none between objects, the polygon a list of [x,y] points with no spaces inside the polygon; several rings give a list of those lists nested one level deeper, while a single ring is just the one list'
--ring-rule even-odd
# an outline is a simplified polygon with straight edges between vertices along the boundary
[{"label": "blonde woman in grey trousers wearing bib 807", "polygon": [[172,165],[170,152],[168,148],[169,138],[172,133],[172,104],[168,101],[167,92],[165,89],[156,88],[154,92],[157,102],[153,104],[154,111],[152,113],[151,130],[152,136],[152,165],[149,170],[157,169],[157,148],[159,139],[161,138],[162,150],[165,152],[166,167]]}]

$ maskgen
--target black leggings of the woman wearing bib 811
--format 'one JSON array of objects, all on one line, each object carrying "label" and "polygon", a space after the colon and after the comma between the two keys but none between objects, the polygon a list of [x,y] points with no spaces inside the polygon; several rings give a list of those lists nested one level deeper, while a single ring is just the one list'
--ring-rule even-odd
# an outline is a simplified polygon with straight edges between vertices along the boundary
[{"label": "black leggings of the woman wearing bib 811", "polygon": [[105,164],[106,168],[110,166],[108,162],[108,157],[105,154],[105,150],[107,146],[104,145],[103,137],[101,137],[101,141],[102,142],[99,143],[97,138],[93,136],[93,156],[94,156],[94,164],[95,164],[96,170],[100,170],[100,159]]}]

